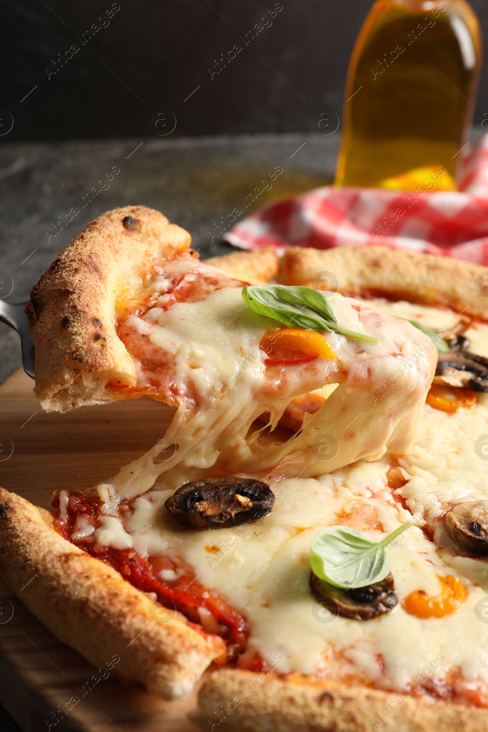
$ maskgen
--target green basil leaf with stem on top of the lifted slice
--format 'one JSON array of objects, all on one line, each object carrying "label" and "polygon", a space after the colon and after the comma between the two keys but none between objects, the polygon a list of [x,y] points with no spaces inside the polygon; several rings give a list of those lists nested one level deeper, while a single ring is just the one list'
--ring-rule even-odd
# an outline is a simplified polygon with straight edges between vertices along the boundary
[{"label": "green basil leaf with stem on top of the lifted slice", "polygon": [[273,318],[287,326],[307,330],[334,331],[356,340],[378,343],[378,338],[341,328],[329,300],[317,290],[299,285],[248,286],[242,298],[254,313]]}]

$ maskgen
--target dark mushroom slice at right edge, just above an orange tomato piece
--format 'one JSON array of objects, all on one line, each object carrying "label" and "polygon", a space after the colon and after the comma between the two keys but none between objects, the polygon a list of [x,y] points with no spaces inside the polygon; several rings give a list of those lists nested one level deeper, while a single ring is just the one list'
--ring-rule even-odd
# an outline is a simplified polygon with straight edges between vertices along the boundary
[{"label": "dark mushroom slice at right edge, just above an orange tomato piece", "polygon": [[488,392],[488,359],[463,350],[439,354],[433,383]]}]

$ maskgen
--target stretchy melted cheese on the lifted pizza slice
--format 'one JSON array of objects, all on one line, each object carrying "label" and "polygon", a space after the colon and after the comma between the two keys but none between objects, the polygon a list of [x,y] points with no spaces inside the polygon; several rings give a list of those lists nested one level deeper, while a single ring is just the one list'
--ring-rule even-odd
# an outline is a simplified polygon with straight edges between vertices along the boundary
[{"label": "stretchy melted cheese on the lifted pizza slice", "polygon": [[[359,458],[380,458],[388,448],[408,452],[435,348],[406,321],[387,318],[369,305],[339,294],[331,304],[343,327],[374,335],[378,343],[326,333],[337,359],[318,358],[298,368],[265,367],[259,344],[275,321],[252,313],[239,288],[213,291],[198,302],[176,302],[168,310],[153,308],[143,318],[132,315],[126,326],[146,337],[146,348],[171,362],[168,389],[179,410],[164,440],[113,479],[117,494],[133,498],[158,479],[161,487],[176,488],[189,476],[205,477],[210,468],[224,474],[276,468],[281,475],[316,476]],[[143,379],[156,381],[157,374],[142,370]],[[247,438],[263,412],[271,414],[274,427],[290,400],[331,383],[339,386],[285,444],[272,451],[261,446],[262,430]],[[382,398],[375,400],[378,390]],[[320,452],[322,438],[334,443],[330,460]]]}]

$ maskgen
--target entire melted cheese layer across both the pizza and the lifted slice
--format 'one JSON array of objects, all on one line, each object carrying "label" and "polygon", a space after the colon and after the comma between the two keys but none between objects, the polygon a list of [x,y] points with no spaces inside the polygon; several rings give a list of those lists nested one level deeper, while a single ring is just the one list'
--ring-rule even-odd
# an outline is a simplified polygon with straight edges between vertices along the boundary
[{"label": "entire melted cheese layer across both the pizza and the lifted slice", "polygon": [[[400,523],[411,520],[410,513],[394,501],[388,490],[386,472],[391,463],[388,455],[383,455],[387,447],[398,455],[402,445],[414,441],[421,411],[408,411],[405,407],[405,419],[391,425],[388,434],[382,431],[381,422],[399,400],[401,404],[402,389],[391,383],[396,373],[392,362],[402,365],[400,386],[413,389],[413,381],[424,378],[425,389],[427,363],[425,356],[415,351],[424,343],[424,337],[418,336],[415,345],[400,337],[400,326],[395,331],[378,316],[375,332],[380,337],[379,346],[358,346],[357,342],[328,335],[331,347],[339,355],[339,365],[347,365],[348,376],[339,378],[334,364],[329,364],[329,370],[321,365],[320,377],[315,372],[307,377],[309,386],[315,378],[323,378],[323,383],[339,382],[342,378],[342,382],[326,401],[327,411],[322,408],[306,418],[302,433],[305,438],[296,438],[292,441],[293,449],[279,452],[279,460],[283,460],[293,457],[297,447],[302,449],[297,463],[301,476],[293,477],[299,473],[298,468],[290,471],[290,477],[280,477],[279,471],[274,471],[269,482],[277,502],[271,515],[235,529],[195,532],[178,529],[169,518],[164,503],[172,495],[174,483],[180,480],[181,485],[199,477],[201,469],[218,466],[224,447],[240,468],[249,466],[252,460],[259,461],[263,455],[258,450],[253,452],[252,444],[249,447],[243,429],[247,430],[258,416],[253,403],[259,401],[263,384],[258,343],[269,324],[243,310],[240,297],[239,291],[222,290],[203,303],[174,305],[166,312],[149,311],[145,318],[132,321],[135,328],[149,336],[151,343],[164,345],[174,355],[179,389],[184,391],[191,385],[200,402],[198,408],[196,404],[192,406],[193,397],[189,396],[187,411],[177,415],[170,438],[179,444],[179,450],[167,460],[168,464],[161,468],[161,463],[154,462],[158,459],[155,449],[124,468],[110,485],[102,485],[100,495],[105,496],[107,512],[113,513],[114,518],[115,489],[121,496],[138,497],[132,515],[123,520],[115,518],[116,523],[106,517],[102,529],[97,530],[99,536],[108,543],[132,542],[141,556],[166,553],[191,565],[201,583],[217,589],[247,617],[249,648],[257,649],[264,660],[282,659],[277,664],[279,672],[322,673],[336,680],[352,676],[378,688],[394,690],[408,690],[415,679],[432,675],[443,678],[454,671],[461,673],[466,684],[488,684],[488,624],[478,622],[474,615],[476,602],[488,592],[487,565],[454,556],[443,542],[438,542],[438,548],[417,526],[388,548],[399,598],[391,613],[362,622],[324,618],[309,591],[310,542],[324,526],[338,521],[348,523],[379,541]],[[342,324],[356,330],[364,327],[357,313],[351,317],[351,301],[334,298]],[[388,315],[423,321],[432,329],[446,327],[455,318],[448,310],[408,303],[378,301],[375,306]],[[365,313],[374,313],[368,308]],[[368,317],[373,322],[373,315]],[[410,330],[408,333],[411,336]],[[476,326],[467,335],[478,353],[488,355],[488,326]],[[286,387],[287,399],[304,388],[304,381],[297,386],[293,382],[295,376],[289,378],[292,385]],[[358,386],[361,378],[364,394]],[[364,395],[367,398],[361,401]],[[415,395],[413,389],[408,398],[414,399]],[[258,408],[262,406],[258,404]],[[284,407],[285,404],[279,406],[279,399],[268,400],[273,423]],[[363,420],[356,417],[361,407],[363,411],[366,408]],[[342,466],[333,461],[319,464],[318,460],[304,460],[306,438],[310,435],[307,427],[323,430],[325,425],[331,433],[339,423],[345,439],[345,425],[349,426],[354,419],[360,424],[357,431],[351,430],[353,441],[361,443],[361,436],[367,439],[369,433],[376,438],[374,448],[372,443],[368,444],[368,462],[359,460],[348,466],[353,461],[350,452],[346,452]],[[379,438],[375,430],[380,430]],[[473,440],[482,433],[488,433],[488,409],[483,399],[472,410],[454,415],[425,408],[414,447],[409,455],[400,458],[408,479],[402,495],[416,513],[416,523],[421,525],[427,513],[435,514],[440,503],[488,497],[486,466],[473,450]],[[354,457],[361,457],[361,449],[356,444]],[[378,459],[372,462],[375,454]],[[174,466],[179,466],[178,471]],[[186,472],[184,479],[181,468]],[[286,474],[282,466],[280,470],[281,476]],[[304,477],[314,470],[315,477]],[[457,612],[430,619],[418,619],[405,612],[401,603],[410,592],[423,589],[427,594],[439,594],[438,576],[447,574],[456,575],[468,589],[468,599]],[[171,578],[173,575],[162,576]]]}]

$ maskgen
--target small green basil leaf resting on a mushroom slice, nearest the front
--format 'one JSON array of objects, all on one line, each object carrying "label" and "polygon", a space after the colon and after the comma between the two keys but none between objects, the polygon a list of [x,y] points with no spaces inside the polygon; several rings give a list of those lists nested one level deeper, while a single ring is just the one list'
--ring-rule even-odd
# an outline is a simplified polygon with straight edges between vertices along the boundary
[{"label": "small green basil leaf resting on a mushroom slice, nearest the front", "polygon": [[312,572],[320,580],[343,589],[380,582],[390,572],[386,546],[409,526],[411,523],[403,523],[380,542],[373,542],[348,526],[328,526],[312,539]]}]

